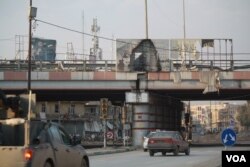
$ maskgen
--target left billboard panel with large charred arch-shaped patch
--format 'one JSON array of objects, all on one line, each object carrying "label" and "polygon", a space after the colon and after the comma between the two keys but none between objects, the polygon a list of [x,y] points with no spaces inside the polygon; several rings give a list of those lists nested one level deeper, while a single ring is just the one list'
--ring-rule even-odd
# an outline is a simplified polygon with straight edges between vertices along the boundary
[{"label": "left billboard panel with large charred arch-shaped patch", "polygon": [[168,40],[118,39],[116,48],[118,71],[160,71],[168,68],[164,64],[169,57]]}]

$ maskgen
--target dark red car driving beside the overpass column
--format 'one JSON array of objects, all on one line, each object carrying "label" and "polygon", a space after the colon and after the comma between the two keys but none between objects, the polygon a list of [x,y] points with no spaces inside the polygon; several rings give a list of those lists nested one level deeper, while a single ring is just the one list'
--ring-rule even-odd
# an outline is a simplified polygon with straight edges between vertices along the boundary
[{"label": "dark red car driving beside the overpass column", "polygon": [[190,154],[189,143],[184,140],[178,131],[157,131],[152,134],[148,140],[149,155],[161,152],[166,155],[167,152],[173,152],[176,156],[179,152],[186,155]]}]

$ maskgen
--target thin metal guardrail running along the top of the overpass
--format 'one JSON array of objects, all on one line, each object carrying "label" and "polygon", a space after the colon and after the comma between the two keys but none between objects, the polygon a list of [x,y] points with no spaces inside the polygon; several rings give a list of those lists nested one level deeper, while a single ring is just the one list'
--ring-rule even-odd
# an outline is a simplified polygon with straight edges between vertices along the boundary
[{"label": "thin metal guardrail running along the top of the overpass", "polygon": [[[169,60],[167,71],[178,71],[184,64],[183,71],[195,71],[202,69],[218,71],[250,70],[250,60]],[[56,60],[32,61],[32,71],[117,71],[116,60]],[[0,71],[27,71],[27,60],[1,60]],[[166,70],[165,70],[166,71]]]}]

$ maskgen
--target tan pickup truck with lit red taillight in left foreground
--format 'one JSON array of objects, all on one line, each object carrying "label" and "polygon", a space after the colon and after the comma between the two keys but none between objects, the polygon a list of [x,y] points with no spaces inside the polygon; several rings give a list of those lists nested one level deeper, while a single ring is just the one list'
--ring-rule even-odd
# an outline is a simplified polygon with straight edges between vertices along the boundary
[{"label": "tan pickup truck with lit red taillight in left foreground", "polygon": [[31,121],[30,144],[26,145],[25,122],[1,120],[1,167],[89,167],[85,149],[59,124]]}]

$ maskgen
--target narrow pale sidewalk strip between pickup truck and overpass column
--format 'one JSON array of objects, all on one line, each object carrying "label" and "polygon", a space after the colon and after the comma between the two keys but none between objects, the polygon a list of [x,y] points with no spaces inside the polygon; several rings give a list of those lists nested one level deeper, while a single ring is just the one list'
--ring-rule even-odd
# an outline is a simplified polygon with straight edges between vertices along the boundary
[{"label": "narrow pale sidewalk strip between pickup truck and overpass column", "polygon": [[106,147],[106,148],[91,148],[86,149],[88,156],[104,155],[134,151],[136,147]]}]

